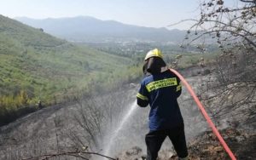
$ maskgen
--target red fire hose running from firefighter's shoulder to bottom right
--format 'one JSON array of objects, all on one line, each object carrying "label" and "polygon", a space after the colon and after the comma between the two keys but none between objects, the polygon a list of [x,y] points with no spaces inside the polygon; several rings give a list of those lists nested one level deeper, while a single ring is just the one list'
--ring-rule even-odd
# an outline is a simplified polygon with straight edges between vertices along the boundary
[{"label": "red fire hose running from firefighter's shoulder to bottom right", "polygon": [[186,86],[186,88],[189,90],[189,94],[191,94],[191,96],[193,97],[193,99],[195,100],[196,105],[199,107],[199,109],[201,110],[202,115],[206,118],[207,123],[209,124],[209,126],[212,128],[212,132],[213,134],[215,134],[219,140],[219,142],[221,143],[221,145],[224,147],[224,150],[229,154],[230,158],[232,160],[236,160],[236,157],[234,156],[233,152],[230,150],[230,147],[226,144],[226,142],[224,141],[223,137],[221,136],[221,134],[219,134],[218,129],[215,127],[214,123],[212,123],[211,118],[208,116],[207,111],[205,110],[204,106],[202,106],[201,101],[198,99],[198,97],[195,95],[194,90],[191,88],[191,86],[189,85],[189,83],[183,78],[183,76],[181,74],[179,74],[177,71],[170,69],[170,71],[172,71],[174,74],[177,75],[177,77],[180,78],[180,80],[183,82],[183,84]]}]

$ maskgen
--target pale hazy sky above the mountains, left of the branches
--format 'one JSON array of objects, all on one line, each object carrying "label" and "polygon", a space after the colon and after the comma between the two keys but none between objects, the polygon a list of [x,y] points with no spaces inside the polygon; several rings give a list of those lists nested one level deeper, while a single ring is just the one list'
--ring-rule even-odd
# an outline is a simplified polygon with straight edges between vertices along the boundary
[{"label": "pale hazy sky above the mountains, left of the branches", "polygon": [[[234,1],[234,0],[229,0]],[[0,14],[10,18],[92,16],[137,26],[166,27],[195,18],[200,0],[0,0]],[[172,28],[185,29],[181,24]]]}]

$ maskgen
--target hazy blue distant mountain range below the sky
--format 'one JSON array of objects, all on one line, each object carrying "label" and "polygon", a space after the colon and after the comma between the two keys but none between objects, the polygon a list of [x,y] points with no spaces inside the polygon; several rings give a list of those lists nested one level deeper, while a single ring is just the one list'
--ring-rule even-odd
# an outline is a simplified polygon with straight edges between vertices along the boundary
[{"label": "hazy blue distant mountain range below the sky", "polygon": [[167,30],[125,25],[113,20],[98,20],[88,16],[73,18],[35,20],[26,17],[15,18],[20,22],[44,29],[45,32],[70,41],[169,41],[177,43],[183,40],[186,31]]}]

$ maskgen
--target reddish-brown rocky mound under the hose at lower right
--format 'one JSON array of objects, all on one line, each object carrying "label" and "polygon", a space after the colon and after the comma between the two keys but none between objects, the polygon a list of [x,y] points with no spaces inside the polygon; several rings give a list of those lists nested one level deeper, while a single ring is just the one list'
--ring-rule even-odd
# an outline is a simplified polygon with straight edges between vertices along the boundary
[{"label": "reddish-brown rocky mound under the hose at lower right", "polygon": [[[230,150],[237,159],[250,160],[256,157],[256,134],[244,130],[228,128],[220,131]],[[224,148],[220,146],[212,131],[207,131],[189,144],[191,159],[230,159]]]}]

